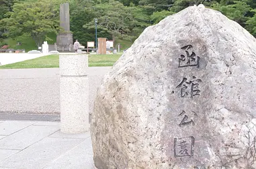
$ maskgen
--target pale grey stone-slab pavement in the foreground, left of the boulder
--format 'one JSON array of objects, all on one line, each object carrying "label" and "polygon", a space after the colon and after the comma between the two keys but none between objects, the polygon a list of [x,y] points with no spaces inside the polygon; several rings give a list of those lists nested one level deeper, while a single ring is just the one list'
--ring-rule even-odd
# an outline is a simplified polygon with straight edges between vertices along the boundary
[{"label": "pale grey stone-slab pavement in the foreground, left of the boulder", "polygon": [[90,133],[63,134],[58,122],[0,121],[0,169],[93,169]]}]

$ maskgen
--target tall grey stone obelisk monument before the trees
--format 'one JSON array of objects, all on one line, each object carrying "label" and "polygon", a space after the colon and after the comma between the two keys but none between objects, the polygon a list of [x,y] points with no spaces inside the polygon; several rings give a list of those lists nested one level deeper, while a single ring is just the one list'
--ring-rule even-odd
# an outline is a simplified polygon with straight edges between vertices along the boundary
[{"label": "tall grey stone obelisk monument before the trees", "polygon": [[70,51],[73,45],[73,34],[70,31],[69,3],[60,4],[60,27],[56,45],[58,51]]}]

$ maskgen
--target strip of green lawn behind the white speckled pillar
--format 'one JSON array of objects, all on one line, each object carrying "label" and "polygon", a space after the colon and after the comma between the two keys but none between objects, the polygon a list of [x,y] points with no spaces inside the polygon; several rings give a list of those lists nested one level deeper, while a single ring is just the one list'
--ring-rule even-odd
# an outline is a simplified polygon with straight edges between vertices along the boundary
[{"label": "strip of green lawn behind the white speckled pillar", "polygon": [[[89,55],[89,66],[112,66],[119,59],[122,54],[115,55]],[[17,63],[11,63],[8,65],[0,66],[0,69],[25,69],[25,68],[48,68],[59,67],[58,55],[47,55],[38,57],[36,59],[30,59],[26,61],[20,61]]]}]

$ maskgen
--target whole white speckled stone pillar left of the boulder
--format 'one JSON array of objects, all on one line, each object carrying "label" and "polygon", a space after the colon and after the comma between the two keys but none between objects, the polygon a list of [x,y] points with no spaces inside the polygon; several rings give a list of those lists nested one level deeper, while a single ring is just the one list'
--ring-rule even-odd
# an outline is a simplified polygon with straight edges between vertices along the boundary
[{"label": "whole white speckled stone pillar left of the boulder", "polygon": [[60,131],[89,130],[88,56],[60,54]]}]

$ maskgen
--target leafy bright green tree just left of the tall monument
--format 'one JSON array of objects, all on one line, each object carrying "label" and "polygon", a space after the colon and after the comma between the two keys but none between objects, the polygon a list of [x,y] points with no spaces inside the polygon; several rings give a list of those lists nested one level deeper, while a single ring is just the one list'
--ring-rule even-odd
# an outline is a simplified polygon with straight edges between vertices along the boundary
[{"label": "leafy bright green tree just left of the tall monument", "polygon": [[[26,10],[24,10],[26,9]],[[56,1],[22,1],[13,5],[9,18],[2,19],[0,25],[8,30],[8,37],[30,35],[41,46],[49,33],[58,33],[58,9]]]}]

